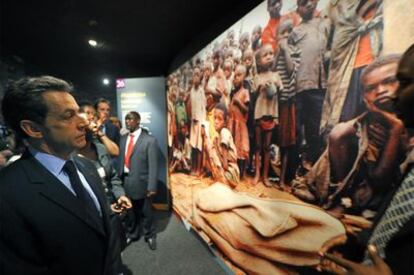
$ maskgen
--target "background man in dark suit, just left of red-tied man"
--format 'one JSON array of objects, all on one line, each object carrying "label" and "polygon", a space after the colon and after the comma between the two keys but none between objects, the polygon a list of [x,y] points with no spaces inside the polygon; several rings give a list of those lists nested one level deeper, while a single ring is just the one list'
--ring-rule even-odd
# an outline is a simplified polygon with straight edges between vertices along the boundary
[{"label": "background man in dark suit, just left of red-tied man", "polygon": [[95,109],[98,113],[98,124],[102,127],[103,134],[119,145],[119,129],[109,120],[111,103],[105,98],[99,98],[95,103]]}]

